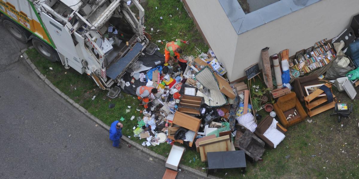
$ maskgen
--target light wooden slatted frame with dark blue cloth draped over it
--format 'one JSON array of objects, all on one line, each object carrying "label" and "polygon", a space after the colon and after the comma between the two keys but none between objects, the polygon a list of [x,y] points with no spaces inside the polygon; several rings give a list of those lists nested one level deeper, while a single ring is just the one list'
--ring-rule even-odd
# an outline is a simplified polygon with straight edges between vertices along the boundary
[{"label": "light wooden slatted frame with dark blue cloth draped over it", "polygon": [[[325,83],[324,84],[326,87],[330,88],[330,91],[333,93],[332,91],[332,86],[329,83]],[[320,106],[314,110],[312,110],[313,108],[325,103],[328,101],[327,96],[323,96],[321,98],[319,98],[318,100],[315,100],[313,102],[311,102],[312,100],[314,100],[315,98],[317,98],[319,95],[321,95],[324,91],[321,89],[316,89],[316,91],[312,92],[310,95],[304,97],[304,101],[306,101],[306,107],[308,110],[308,115],[310,117],[315,116],[319,113],[322,113],[324,111],[330,110],[331,108],[335,107],[335,103],[336,103],[336,98],[335,95],[333,95],[333,98],[335,99],[334,101],[327,103],[326,105]]]}]

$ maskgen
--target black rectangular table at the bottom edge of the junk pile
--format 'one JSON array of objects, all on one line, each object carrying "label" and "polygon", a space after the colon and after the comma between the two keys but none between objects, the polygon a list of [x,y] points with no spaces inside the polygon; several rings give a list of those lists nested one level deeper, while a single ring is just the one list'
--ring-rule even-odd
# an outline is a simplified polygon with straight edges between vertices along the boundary
[{"label": "black rectangular table at the bottom edge of the junk pile", "polygon": [[243,150],[208,152],[206,161],[206,174],[217,172],[220,169],[242,168],[243,174],[246,169],[246,156]]}]

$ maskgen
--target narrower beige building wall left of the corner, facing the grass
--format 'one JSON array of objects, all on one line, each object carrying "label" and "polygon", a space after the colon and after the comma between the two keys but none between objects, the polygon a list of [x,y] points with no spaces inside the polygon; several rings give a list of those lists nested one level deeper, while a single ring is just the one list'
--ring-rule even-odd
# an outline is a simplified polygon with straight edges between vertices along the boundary
[{"label": "narrower beige building wall left of the corner, facing the grass", "polygon": [[[201,28],[208,44],[223,63],[230,79],[238,71],[232,68],[238,35],[218,0],[183,0]],[[190,41],[191,42],[191,41]]]}]

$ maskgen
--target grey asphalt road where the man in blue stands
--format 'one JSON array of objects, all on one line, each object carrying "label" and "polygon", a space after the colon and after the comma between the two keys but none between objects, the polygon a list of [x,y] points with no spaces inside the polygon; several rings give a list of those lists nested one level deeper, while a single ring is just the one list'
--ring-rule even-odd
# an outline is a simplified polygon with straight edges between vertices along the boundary
[{"label": "grey asphalt road where the man in blue stands", "polygon": [[[164,162],[112,147],[108,131],[42,82],[0,25],[0,178],[162,178]],[[177,178],[197,178],[185,171]]]}]

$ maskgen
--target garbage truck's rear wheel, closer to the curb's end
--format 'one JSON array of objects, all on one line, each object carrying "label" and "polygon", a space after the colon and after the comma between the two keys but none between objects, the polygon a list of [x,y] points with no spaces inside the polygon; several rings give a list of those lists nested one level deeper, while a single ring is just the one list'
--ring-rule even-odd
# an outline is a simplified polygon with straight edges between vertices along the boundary
[{"label": "garbage truck's rear wheel, closer to the curb's end", "polygon": [[35,49],[46,59],[51,62],[59,61],[59,54],[57,54],[56,50],[53,49],[50,45],[43,42],[38,38],[32,39],[32,44],[34,45]]}]

